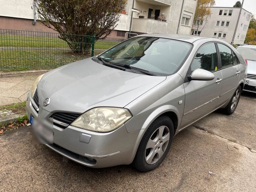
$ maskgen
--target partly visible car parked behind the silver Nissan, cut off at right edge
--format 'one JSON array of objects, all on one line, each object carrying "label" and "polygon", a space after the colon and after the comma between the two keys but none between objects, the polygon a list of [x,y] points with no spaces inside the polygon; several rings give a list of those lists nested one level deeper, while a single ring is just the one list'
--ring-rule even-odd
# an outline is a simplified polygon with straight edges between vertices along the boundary
[{"label": "partly visible car parked behind the silver Nissan, cut off at right edge", "polygon": [[256,93],[256,45],[242,45],[236,48],[248,64],[244,90]]}]

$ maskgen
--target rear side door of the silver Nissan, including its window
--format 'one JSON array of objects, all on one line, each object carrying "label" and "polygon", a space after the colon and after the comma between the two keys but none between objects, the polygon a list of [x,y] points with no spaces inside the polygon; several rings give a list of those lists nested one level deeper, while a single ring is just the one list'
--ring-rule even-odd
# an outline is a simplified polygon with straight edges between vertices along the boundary
[{"label": "rear side door of the silver Nissan, including its window", "polygon": [[222,89],[220,92],[220,103],[224,104],[231,99],[240,78],[239,60],[234,52],[226,45],[217,43],[220,53],[220,64],[222,72]]}]

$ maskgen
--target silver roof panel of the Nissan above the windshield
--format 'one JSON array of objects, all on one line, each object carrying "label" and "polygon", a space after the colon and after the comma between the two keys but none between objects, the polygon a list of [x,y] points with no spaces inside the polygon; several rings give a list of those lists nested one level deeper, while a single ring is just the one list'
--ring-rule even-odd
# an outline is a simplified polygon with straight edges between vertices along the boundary
[{"label": "silver roof panel of the Nissan above the windshield", "polygon": [[[180,35],[180,34],[142,34],[139,36],[148,36],[148,37],[158,37],[158,38],[167,38],[167,39],[175,39],[180,41],[185,41],[189,43],[193,43],[196,40],[200,39],[207,39],[205,37],[201,36],[195,36],[195,35]],[[135,36],[136,37],[136,36]],[[211,39],[211,38],[208,38]]]}]

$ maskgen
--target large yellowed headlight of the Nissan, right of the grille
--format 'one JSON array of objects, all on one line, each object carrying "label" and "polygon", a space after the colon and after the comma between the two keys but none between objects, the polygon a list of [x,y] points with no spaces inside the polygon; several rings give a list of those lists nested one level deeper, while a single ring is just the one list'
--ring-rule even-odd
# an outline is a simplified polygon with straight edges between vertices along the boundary
[{"label": "large yellowed headlight of the Nissan, right of the grille", "polygon": [[72,126],[96,131],[109,132],[132,118],[127,109],[114,107],[98,107],[88,110],[71,124]]}]

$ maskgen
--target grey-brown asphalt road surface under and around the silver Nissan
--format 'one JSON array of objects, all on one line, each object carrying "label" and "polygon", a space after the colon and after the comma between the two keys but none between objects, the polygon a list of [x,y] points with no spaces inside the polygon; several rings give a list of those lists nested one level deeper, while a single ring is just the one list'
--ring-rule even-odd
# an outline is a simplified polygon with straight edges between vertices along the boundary
[{"label": "grey-brown asphalt road surface under and around the silver Nissan", "polygon": [[[0,191],[256,191],[256,94],[236,112],[207,116],[178,134],[147,173],[132,166],[92,169],[33,145],[30,127],[0,136]],[[217,173],[210,175],[208,172]]]}]

